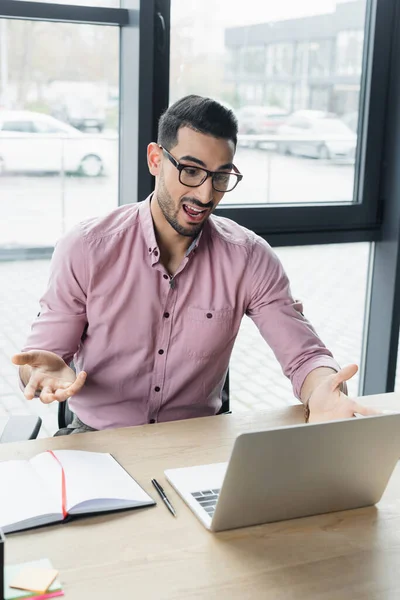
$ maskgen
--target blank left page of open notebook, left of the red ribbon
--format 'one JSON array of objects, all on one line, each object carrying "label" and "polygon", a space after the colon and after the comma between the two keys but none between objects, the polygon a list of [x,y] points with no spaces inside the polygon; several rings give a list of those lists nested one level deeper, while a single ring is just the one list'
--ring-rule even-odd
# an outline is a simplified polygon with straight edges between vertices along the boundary
[{"label": "blank left page of open notebook, left of the red ribbon", "polygon": [[0,463],[0,528],[40,515],[60,514],[60,501],[38,479],[28,461]]}]

